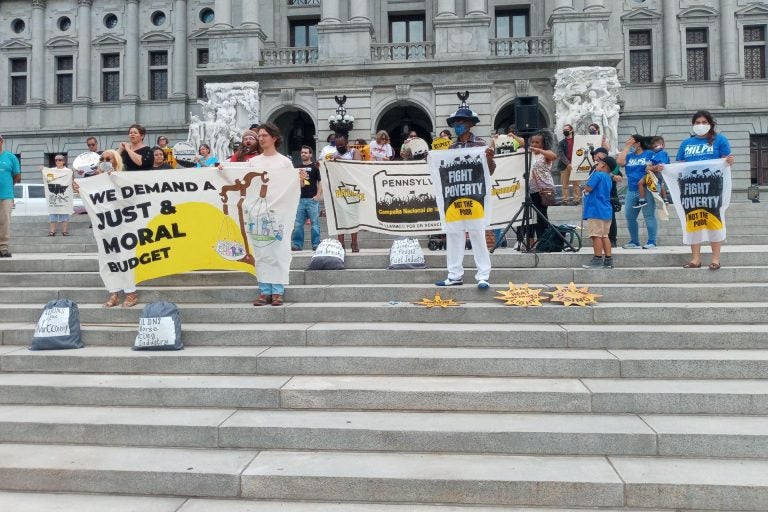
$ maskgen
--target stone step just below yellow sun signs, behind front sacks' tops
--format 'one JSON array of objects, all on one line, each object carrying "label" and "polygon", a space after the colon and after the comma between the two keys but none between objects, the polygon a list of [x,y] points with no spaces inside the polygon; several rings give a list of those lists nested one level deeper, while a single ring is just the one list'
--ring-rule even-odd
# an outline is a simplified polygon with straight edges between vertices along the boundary
[{"label": "stone step just below yellow sun signs, behind front sacks' tops", "polygon": [[[490,292],[489,292],[490,293]],[[444,293],[443,298],[450,298]],[[286,295],[288,301],[290,295]],[[134,308],[104,309],[101,304],[79,304],[82,323],[138,324],[141,305]],[[179,304],[183,318],[214,323],[302,323],[346,322],[366,319],[369,322],[443,323],[543,323],[556,317],[563,323],[638,324],[653,321],[659,324],[679,323],[681,319],[708,323],[764,323],[768,302],[701,302],[666,303],[606,302],[590,307],[563,307],[545,304],[537,308],[513,308],[498,303],[473,302],[457,308],[425,308],[410,303],[336,302],[294,303],[280,307],[255,308],[250,304]],[[36,322],[41,305],[0,304],[0,317],[17,322]],[[695,314],[695,317],[691,315]],[[651,320],[652,319],[652,320]]]}]

